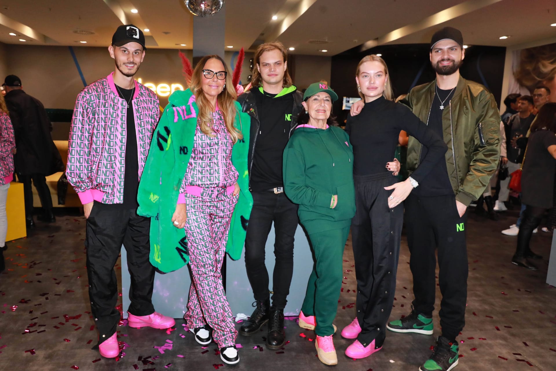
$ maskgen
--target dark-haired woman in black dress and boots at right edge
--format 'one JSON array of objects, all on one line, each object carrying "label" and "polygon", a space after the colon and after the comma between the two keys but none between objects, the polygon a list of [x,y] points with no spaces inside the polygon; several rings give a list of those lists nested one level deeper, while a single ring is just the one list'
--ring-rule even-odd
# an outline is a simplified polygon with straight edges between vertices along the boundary
[{"label": "dark-haired woman in black dress and boots at right edge", "polygon": [[528,259],[542,259],[542,256],[533,253],[529,244],[533,230],[539,226],[544,212],[554,205],[555,170],[556,103],[545,103],[531,126],[527,153],[523,161],[522,202],[526,206],[512,264],[538,270]]}]

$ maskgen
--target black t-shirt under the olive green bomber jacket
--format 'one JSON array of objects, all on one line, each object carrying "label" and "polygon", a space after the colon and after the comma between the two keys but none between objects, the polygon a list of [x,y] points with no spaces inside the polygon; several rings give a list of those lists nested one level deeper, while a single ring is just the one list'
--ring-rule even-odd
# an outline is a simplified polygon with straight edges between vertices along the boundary
[{"label": "black t-shirt under the olive green bomber jacket", "polygon": [[[429,122],[427,123],[427,126],[441,138],[444,138],[442,114],[445,110],[450,110],[450,100],[454,96],[454,91],[455,88],[442,90],[437,86],[434,94],[433,105],[430,107]],[[421,164],[421,161],[423,161],[427,152],[428,150],[426,147],[422,146],[419,164]],[[419,186],[416,187],[413,192],[419,196],[443,196],[454,194],[454,190],[451,187],[450,179],[448,177],[448,167],[446,167],[445,159],[441,159],[436,163],[433,170],[429,172],[429,175],[425,177],[423,181],[419,182]]]}]

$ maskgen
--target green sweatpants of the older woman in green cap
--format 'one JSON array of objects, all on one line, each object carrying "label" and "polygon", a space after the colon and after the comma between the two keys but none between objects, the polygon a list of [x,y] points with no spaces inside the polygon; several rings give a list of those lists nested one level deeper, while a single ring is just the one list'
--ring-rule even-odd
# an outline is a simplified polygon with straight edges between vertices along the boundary
[{"label": "green sweatpants of the older woman in green cap", "polygon": [[332,321],[336,317],[342,286],[342,261],[349,226],[309,234],[315,263],[301,310],[316,317],[315,333],[319,336],[334,334]]}]

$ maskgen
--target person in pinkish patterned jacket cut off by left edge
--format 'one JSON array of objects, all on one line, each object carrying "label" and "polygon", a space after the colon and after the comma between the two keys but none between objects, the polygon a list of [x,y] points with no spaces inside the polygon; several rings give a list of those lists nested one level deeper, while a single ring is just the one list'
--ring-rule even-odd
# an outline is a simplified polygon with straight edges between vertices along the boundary
[{"label": "person in pinkish patterned jacket cut off by left edge", "polygon": [[4,250],[6,250],[6,234],[8,233],[8,216],[6,201],[8,199],[9,182],[13,179],[13,155],[16,147],[12,121],[4,97],[0,95],[0,273],[6,268]]}]

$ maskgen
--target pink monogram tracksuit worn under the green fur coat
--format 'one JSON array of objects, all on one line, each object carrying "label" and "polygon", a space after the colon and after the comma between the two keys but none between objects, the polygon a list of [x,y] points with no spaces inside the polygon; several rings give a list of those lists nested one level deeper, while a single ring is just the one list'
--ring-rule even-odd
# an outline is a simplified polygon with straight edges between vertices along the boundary
[{"label": "pink monogram tracksuit worn under the green fur coat", "polygon": [[214,137],[197,126],[178,204],[187,207],[185,233],[193,275],[185,314],[187,326],[209,324],[215,342],[223,348],[235,345],[237,336],[222,286],[221,267],[237,202],[232,193],[238,174],[231,162],[233,142],[219,110],[213,114],[212,130]]}]

